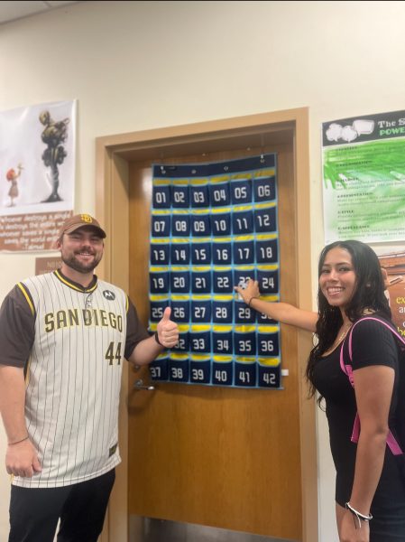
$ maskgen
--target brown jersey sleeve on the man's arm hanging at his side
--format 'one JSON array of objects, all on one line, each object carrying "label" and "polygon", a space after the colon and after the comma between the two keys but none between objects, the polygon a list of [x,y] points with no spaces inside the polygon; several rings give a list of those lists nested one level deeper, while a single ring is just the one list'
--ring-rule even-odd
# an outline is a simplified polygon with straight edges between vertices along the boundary
[{"label": "brown jersey sleeve on the man's arm hanging at his side", "polygon": [[35,312],[23,285],[15,285],[0,308],[0,364],[25,367],[35,334]]}]

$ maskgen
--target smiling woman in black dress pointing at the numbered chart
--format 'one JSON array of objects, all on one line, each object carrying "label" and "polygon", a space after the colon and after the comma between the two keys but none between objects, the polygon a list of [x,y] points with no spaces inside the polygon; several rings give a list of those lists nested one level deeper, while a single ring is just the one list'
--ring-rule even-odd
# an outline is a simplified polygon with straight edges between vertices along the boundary
[{"label": "smiling woman in black dress pointing at the numbered chart", "polygon": [[[399,348],[382,323],[364,320],[353,330],[354,389],[340,368],[340,350],[364,314],[390,320],[379,260],[360,241],[323,249],[318,266],[318,314],[260,299],[256,281],[235,287],[244,302],[272,319],[315,332],[308,358],[311,395],[326,400],[330,446],[336,466],[336,521],[341,542],[405,541],[405,482],[386,446],[395,433]],[[403,391],[401,392],[403,393]],[[351,442],[356,412],[361,432]],[[403,415],[402,415],[403,420]]]}]

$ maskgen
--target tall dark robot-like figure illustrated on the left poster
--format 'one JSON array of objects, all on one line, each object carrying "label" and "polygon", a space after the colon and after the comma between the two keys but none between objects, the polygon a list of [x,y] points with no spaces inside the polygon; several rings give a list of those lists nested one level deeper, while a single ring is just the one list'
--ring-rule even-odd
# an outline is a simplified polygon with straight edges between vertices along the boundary
[{"label": "tall dark robot-like figure illustrated on the left poster", "polygon": [[64,143],[68,137],[69,118],[64,118],[63,120],[55,122],[51,118],[49,111],[42,111],[40,122],[45,126],[45,129],[41,133],[41,140],[47,145],[47,148],[42,153],[42,160],[47,167],[51,167],[52,183],[51,195],[43,202],[61,201],[58,193],[59,165],[63,163],[68,155],[61,144]]}]

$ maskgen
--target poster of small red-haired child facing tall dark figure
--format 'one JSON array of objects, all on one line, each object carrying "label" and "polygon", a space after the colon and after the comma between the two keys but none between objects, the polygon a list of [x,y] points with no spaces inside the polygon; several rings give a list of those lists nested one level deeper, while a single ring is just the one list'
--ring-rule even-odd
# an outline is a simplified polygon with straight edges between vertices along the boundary
[{"label": "poster of small red-haired child facing tall dark figure", "polygon": [[74,208],[76,106],[0,112],[0,250],[54,249]]}]

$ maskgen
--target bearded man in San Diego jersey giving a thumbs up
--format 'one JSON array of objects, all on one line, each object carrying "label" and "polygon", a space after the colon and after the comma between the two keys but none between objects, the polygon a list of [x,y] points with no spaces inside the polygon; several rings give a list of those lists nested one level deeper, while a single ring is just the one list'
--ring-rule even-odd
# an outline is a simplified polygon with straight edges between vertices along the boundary
[{"label": "bearded man in San Diego jersey giving a thumbs up", "polygon": [[0,410],[12,474],[9,542],[96,542],[120,463],[123,359],[150,363],[179,338],[167,307],[150,337],[124,292],[98,280],[106,233],[60,229],[60,270],[14,286],[0,310]]}]

